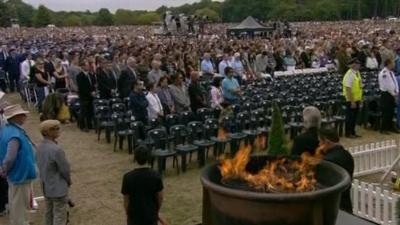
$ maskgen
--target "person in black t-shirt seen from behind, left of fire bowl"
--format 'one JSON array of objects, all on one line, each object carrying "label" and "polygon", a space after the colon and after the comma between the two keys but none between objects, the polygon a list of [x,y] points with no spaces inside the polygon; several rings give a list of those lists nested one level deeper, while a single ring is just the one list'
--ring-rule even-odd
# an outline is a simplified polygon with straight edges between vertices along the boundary
[{"label": "person in black t-shirt seen from behind, left of fire bowl", "polygon": [[135,160],[139,167],[126,173],[122,181],[124,208],[128,225],[157,225],[158,212],[163,201],[161,176],[146,166],[151,159],[151,151],[145,146],[135,150]]}]

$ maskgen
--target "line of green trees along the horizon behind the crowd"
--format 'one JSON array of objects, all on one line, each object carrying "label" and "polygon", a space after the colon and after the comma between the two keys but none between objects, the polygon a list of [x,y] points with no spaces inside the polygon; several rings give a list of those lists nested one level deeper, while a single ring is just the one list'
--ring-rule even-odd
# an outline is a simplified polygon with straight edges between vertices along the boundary
[{"label": "line of green trees along the horizon behind the crowd", "polygon": [[10,26],[11,19],[21,26],[109,26],[144,25],[160,21],[166,11],[174,14],[207,16],[212,22],[239,22],[249,15],[261,20],[353,20],[400,15],[400,0],[201,0],[179,7],[161,6],[155,11],[108,9],[97,12],[52,11],[22,0],[0,0],[0,26]]}]

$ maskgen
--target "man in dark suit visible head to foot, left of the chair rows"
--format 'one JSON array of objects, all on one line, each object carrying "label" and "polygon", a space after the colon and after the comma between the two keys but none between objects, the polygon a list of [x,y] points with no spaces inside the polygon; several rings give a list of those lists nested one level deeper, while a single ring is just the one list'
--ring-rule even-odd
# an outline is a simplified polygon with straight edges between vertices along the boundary
[{"label": "man in dark suit visible head to foot, left of the chair rows", "polygon": [[79,63],[81,72],[76,77],[78,96],[80,102],[79,126],[83,131],[92,129],[93,122],[93,96],[95,96],[94,79],[89,74],[89,63],[83,60]]}]

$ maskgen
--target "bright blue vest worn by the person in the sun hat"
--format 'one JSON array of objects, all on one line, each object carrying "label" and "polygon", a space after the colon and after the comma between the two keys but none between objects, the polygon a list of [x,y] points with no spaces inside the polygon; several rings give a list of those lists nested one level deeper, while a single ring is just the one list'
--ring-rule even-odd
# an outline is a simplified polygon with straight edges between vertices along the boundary
[{"label": "bright blue vest worn by the person in the sun hat", "polygon": [[7,176],[12,184],[24,184],[36,178],[36,166],[32,144],[21,127],[7,124],[3,128],[0,139],[0,162],[4,161],[8,143],[13,138],[19,141],[20,147],[17,158],[8,170]]}]

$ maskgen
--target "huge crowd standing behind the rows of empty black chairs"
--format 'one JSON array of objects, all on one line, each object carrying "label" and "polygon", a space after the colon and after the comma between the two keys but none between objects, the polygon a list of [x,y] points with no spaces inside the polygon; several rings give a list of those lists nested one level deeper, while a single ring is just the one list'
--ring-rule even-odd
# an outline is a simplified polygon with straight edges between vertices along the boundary
[{"label": "huge crowd standing behind the rows of empty black chairs", "polygon": [[[93,98],[130,97],[132,106],[147,108],[133,107],[146,122],[182,110],[220,107],[222,101],[235,103],[241,84],[275,71],[328,67],[344,75],[353,59],[360,71],[383,69],[391,59],[393,72],[400,74],[398,27],[383,21],[299,23],[293,25],[292,38],[269,39],[226,37],[226,26],[210,26],[208,33],[185,39],[157,37],[148,27],[4,30],[0,88],[26,97],[25,88],[33,84],[39,111],[56,90],[78,93],[88,120]],[[212,90],[202,90],[198,77],[216,79]],[[135,87],[139,91],[131,92]]]}]

